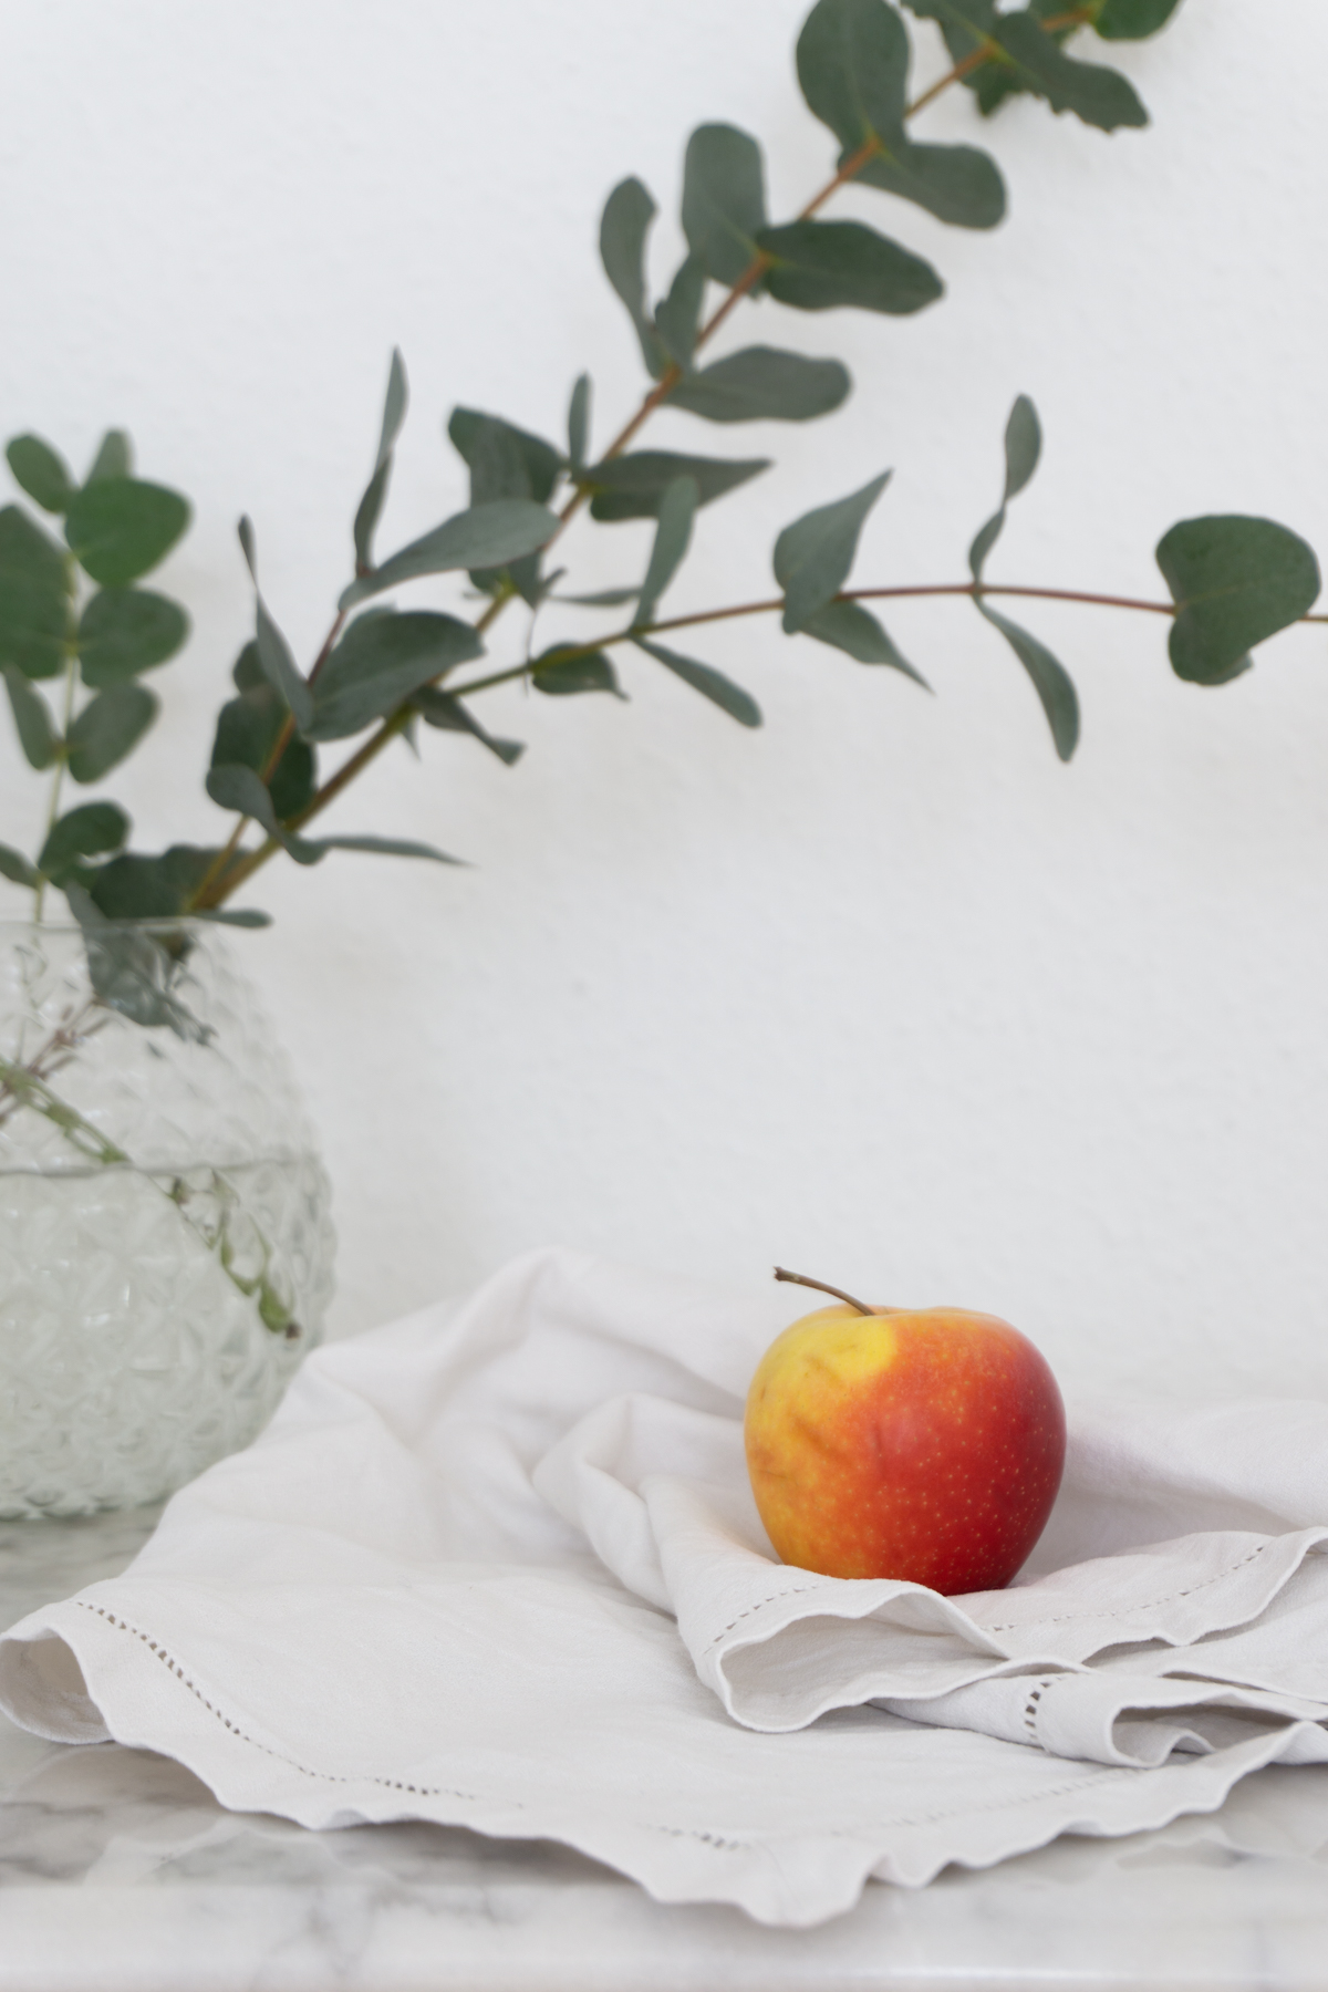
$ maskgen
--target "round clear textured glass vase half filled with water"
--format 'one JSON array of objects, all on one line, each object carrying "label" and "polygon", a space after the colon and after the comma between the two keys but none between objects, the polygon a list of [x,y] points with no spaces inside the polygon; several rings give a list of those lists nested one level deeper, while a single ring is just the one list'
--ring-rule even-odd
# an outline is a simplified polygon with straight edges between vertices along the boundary
[{"label": "round clear textured glass vase half filled with water", "polygon": [[0,922],[0,1516],[159,1500],[263,1428],[329,1181],[205,922]]}]

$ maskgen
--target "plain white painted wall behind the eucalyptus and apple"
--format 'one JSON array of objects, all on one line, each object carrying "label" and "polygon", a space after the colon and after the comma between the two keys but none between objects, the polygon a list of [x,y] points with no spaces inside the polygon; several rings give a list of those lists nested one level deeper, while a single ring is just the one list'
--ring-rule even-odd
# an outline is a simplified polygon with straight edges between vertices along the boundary
[{"label": "plain white painted wall behind the eucalyptus and apple", "polygon": [[[800,205],[830,165],[792,80],[802,12],[4,0],[4,434],[82,464],[125,424],[143,474],[197,506],[159,574],[195,637],[108,785],[141,849],[219,829],[199,771],[251,614],[237,514],[311,655],[394,341],[414,406],[382,548],[464,502],[440,436],[456,400],[557,436],[587,367],[603,442],[639,371],[601,199],[637,171],[671,211],[687,131],[729,118],[769,147],[775,211]],[[928,114],[996,149],[999,235],[842,199],[938,261],[940,307],[749,309],[735,343],[850,363],[836,418],[657,420],[657,444],[780,460],[703,514],[677,612],[769,592],[778,526],[890,464],[858,578],[962,578],[1017,390],[1047,448],[994,580],[1159,596],[1153,544],[1205,510],[1328,548],[1328,14],[1185,0],[1117,60],[1147,133],[1031,104],[984,133],[958,92]],[[671,221],[659,237],[665,277]],[[635,578],[645,530],[583,526],[565,550],[603,586]],[[763,733],[643,665],[631,705],[504,691],[488,719],[530,743],[516,771],[430,735],[424,765],[394,751],[336,817],[472,871],[267,872],[279,924],[237,946],[336,1179],[338,1331],[565,1241],[986,1307],[1071,1388],[1328,1390],[1324,631],[1199,691],[1161,622],[1027,620],[1081,687],[1069,769],[966,604],[892,618],[934,699],[745,623],[695,649],[761,697]],[[510,616],[498,659],[520,639]],[[34,785],[0,753],[0,837],[30,843]]]}]

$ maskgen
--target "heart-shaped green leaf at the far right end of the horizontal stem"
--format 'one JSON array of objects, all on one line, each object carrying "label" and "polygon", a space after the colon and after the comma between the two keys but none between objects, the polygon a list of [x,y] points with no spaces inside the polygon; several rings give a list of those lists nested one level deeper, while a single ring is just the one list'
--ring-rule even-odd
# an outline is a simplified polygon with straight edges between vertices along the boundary
[{"label": "heart-shaped green leaf at the far right end of the horizontal stem", "polygon": [[1187,518],[1157,546],[1177,616],[1171,667],[1195,685],[1222,685],[1248,651],[1286,629],[1318,600],[1318,562],[1306,542],[1270,518]]}]

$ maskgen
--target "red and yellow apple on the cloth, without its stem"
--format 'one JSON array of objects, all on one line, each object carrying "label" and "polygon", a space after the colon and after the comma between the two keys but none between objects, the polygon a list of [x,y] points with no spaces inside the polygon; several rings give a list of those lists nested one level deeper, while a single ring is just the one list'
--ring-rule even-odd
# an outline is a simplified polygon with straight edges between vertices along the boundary
[{"label": "red and yellow apple on the cloth, without its stem", "polygon": [[1065,1406],[1027,1337],[958,1307],[822,1307],[767,1349],[747,1470],[786,1564],[996,1592],[1041,1536]]}]

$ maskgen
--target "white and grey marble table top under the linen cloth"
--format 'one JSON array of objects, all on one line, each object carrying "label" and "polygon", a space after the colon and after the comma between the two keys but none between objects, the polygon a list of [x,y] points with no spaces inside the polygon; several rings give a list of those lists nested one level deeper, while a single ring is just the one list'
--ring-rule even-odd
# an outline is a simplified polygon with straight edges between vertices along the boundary
[{"label": "white and grey marble table top under the linen cloth", "polygon": [[[0,1524],[0,1625],[121,1570],[155,1512]],[[1328,1767],[1067,1837],[818,1930],[665,1908],[548,1843],[307,1833],[189,1771],[0,1717],[0,1992],[1328,1992]]]}]

